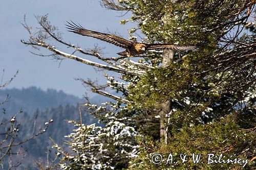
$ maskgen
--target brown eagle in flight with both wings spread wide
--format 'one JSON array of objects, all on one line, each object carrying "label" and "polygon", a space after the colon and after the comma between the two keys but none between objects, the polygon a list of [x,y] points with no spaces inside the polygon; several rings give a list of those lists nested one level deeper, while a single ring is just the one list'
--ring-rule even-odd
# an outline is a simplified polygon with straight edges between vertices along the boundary
[{"label": "brown eagle in flight with both wings spread wide", "polygon": [[147,44],[147,43],[141,43],[141,42],[133,42],[112,34],[105,34],[105,33],[87,30],[87,29],[84,29],[82,26],[77,25],[73,21],[71,22],[72,23],[68,22],[68,25],[66,25],[67,29],[69,29],[70,32],[80,34],[82,36],[97,38],[102,41],[106,41],[116,46],[125,48],[126,49],[125,51],[117,53],[120,56],[134,57],[136,55],[143,54],[148,50],[187,51],[187,50],[195,50],[196,48],[199,47],[199,45]]}]

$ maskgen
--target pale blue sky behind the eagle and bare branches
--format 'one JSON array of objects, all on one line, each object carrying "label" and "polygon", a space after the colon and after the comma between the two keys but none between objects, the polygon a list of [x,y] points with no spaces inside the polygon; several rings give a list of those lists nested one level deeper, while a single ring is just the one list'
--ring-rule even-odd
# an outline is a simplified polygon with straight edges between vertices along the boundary
[{"label": "pale blue sky behind the eagle and bare branches", "polygon": [[[49,14],[51,23],[59,28],[63,33],[62,37],[67,42],[79,44],[82,48],[94,47],[94,44],[98,43],[99,46],[105,47],[103,52],[108,57],[117,57],[116,53],[122,49],[97,39],[67,32],[64,25],[66,20],[79,22],[85,28],[99,32],[108,32],[109,29],[111,32],[118,32],[124,38],[129,37],[127,30],[132,28],[131,24],[124,26],[119,24],[119,20],[129,18],[129,15],[119,17],[121,13],[102,8],[96,0],[2,1],[0,6],[0,74],[2,75],[5,69],[4,80],[8,80],[16,70],[19,70],[17,78],[8,88],[37,86],[44,90],[47,88],[63,90],[82,97],[86,89],[74,78],[100,79],[102,82],[102,73],[96,73],[92,66],[66,59],[58,67],[58,62],[54,62],[49,57],[38,57],[29,53],[32,50],[31,47],[20,42],[20,39],[28,39],[28,33],[20,23],[25,14],[28,25],[33,28],[38,26],[34,15]],[[90,56],[87,56],[87,59],[90,59]]]}]

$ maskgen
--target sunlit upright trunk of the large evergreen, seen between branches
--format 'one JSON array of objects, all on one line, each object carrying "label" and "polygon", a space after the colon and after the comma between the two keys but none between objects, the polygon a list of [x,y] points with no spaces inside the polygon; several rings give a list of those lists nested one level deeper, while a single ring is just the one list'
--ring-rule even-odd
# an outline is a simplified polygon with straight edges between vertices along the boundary
[{"label": "sunlit upright trunk of the large evergreen, seen between branches", "polygon": [[[163,61],[162,61],[162,67],[166,68],[170,65],[170,63],[173,61],[174,58],[174,52],[173,50],[165,50],[163,53]],[[162,142],[167,143],[167,132],[165,127],[166,122],[166,114],[170,112],[170,101],[165,101],[162,103],[162,108],[159,113],[160,115],[160,140]]]}]

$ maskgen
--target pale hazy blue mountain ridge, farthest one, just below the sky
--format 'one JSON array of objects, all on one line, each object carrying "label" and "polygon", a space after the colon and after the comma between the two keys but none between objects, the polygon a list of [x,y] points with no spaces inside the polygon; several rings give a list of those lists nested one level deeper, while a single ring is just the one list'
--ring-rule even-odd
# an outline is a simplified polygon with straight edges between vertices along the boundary
[{"label": "pale hazy blue mountain ridge, farthest one, just below the sky", "polygon": [[66,94],[62,90],[57,91],[48,89],[46,91],[37,87],[28,87],[22,89],[3,89],[0,90],[0,102],[6,99],[9,95],[8,102],[0,105],[0,109],[6,109],[7,115],[13,115],[23,109],[29,115],[32,115],[36,109],[43,111],[47,108],[57,107],[59,105],[76,105],[82,103],[82,99],[72,94]]}]

